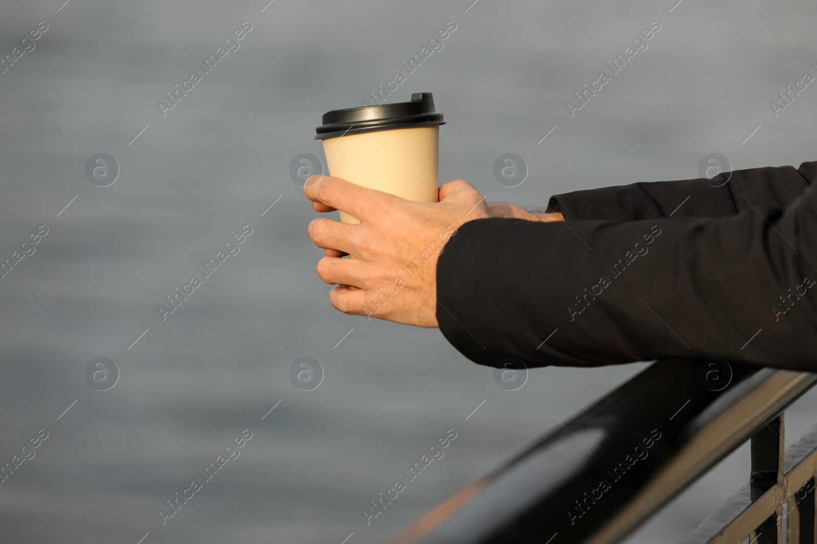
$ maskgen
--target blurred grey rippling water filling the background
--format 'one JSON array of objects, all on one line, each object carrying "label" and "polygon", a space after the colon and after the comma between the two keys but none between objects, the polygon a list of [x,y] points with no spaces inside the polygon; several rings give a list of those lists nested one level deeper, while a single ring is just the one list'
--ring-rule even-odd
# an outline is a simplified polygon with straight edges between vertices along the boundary
[{"label": "blurred grey rippling water filling the background", "polygon": [[[777,118],[768,104],[817,61],[806,0],[265,3],[0,7],[2,55],[48,24],[0,76],[0,255],[49,229],[0,284],[0,459],[49,433],[0,486],[3,542],[383,542],[643,368],[536,369],[503,391],[439,331],[329,305],[289,163],[322,157],[320,115],[366,100],[449,20],[390,100],[433,91],[441,181],[490,200],[693,178],[713,152],[734,168],[815,158],[817,91]],[[157,100],[245,20],[239,50],[162,117]],[[649,48],[570,117],[565,100],[653,20]],[[493,179],[507,152],[529,167],[516,188]],[[118,161],[109,187],[85,177],[95,153]],[[162,321],[157,304],[246,224],[239,254]],[[109,391],[85,380],[98,356],[121,373]],[[323,365],[314,391],[289,381],[301,356]],[[814,408],[792,409],[789,436]],[[364,506],[450,428],[431,475],[367,526]],[[162,525],[158,508],[244,429],[240,457]],[[747,463],[744,448],[630,542],[674,542]]]}]

